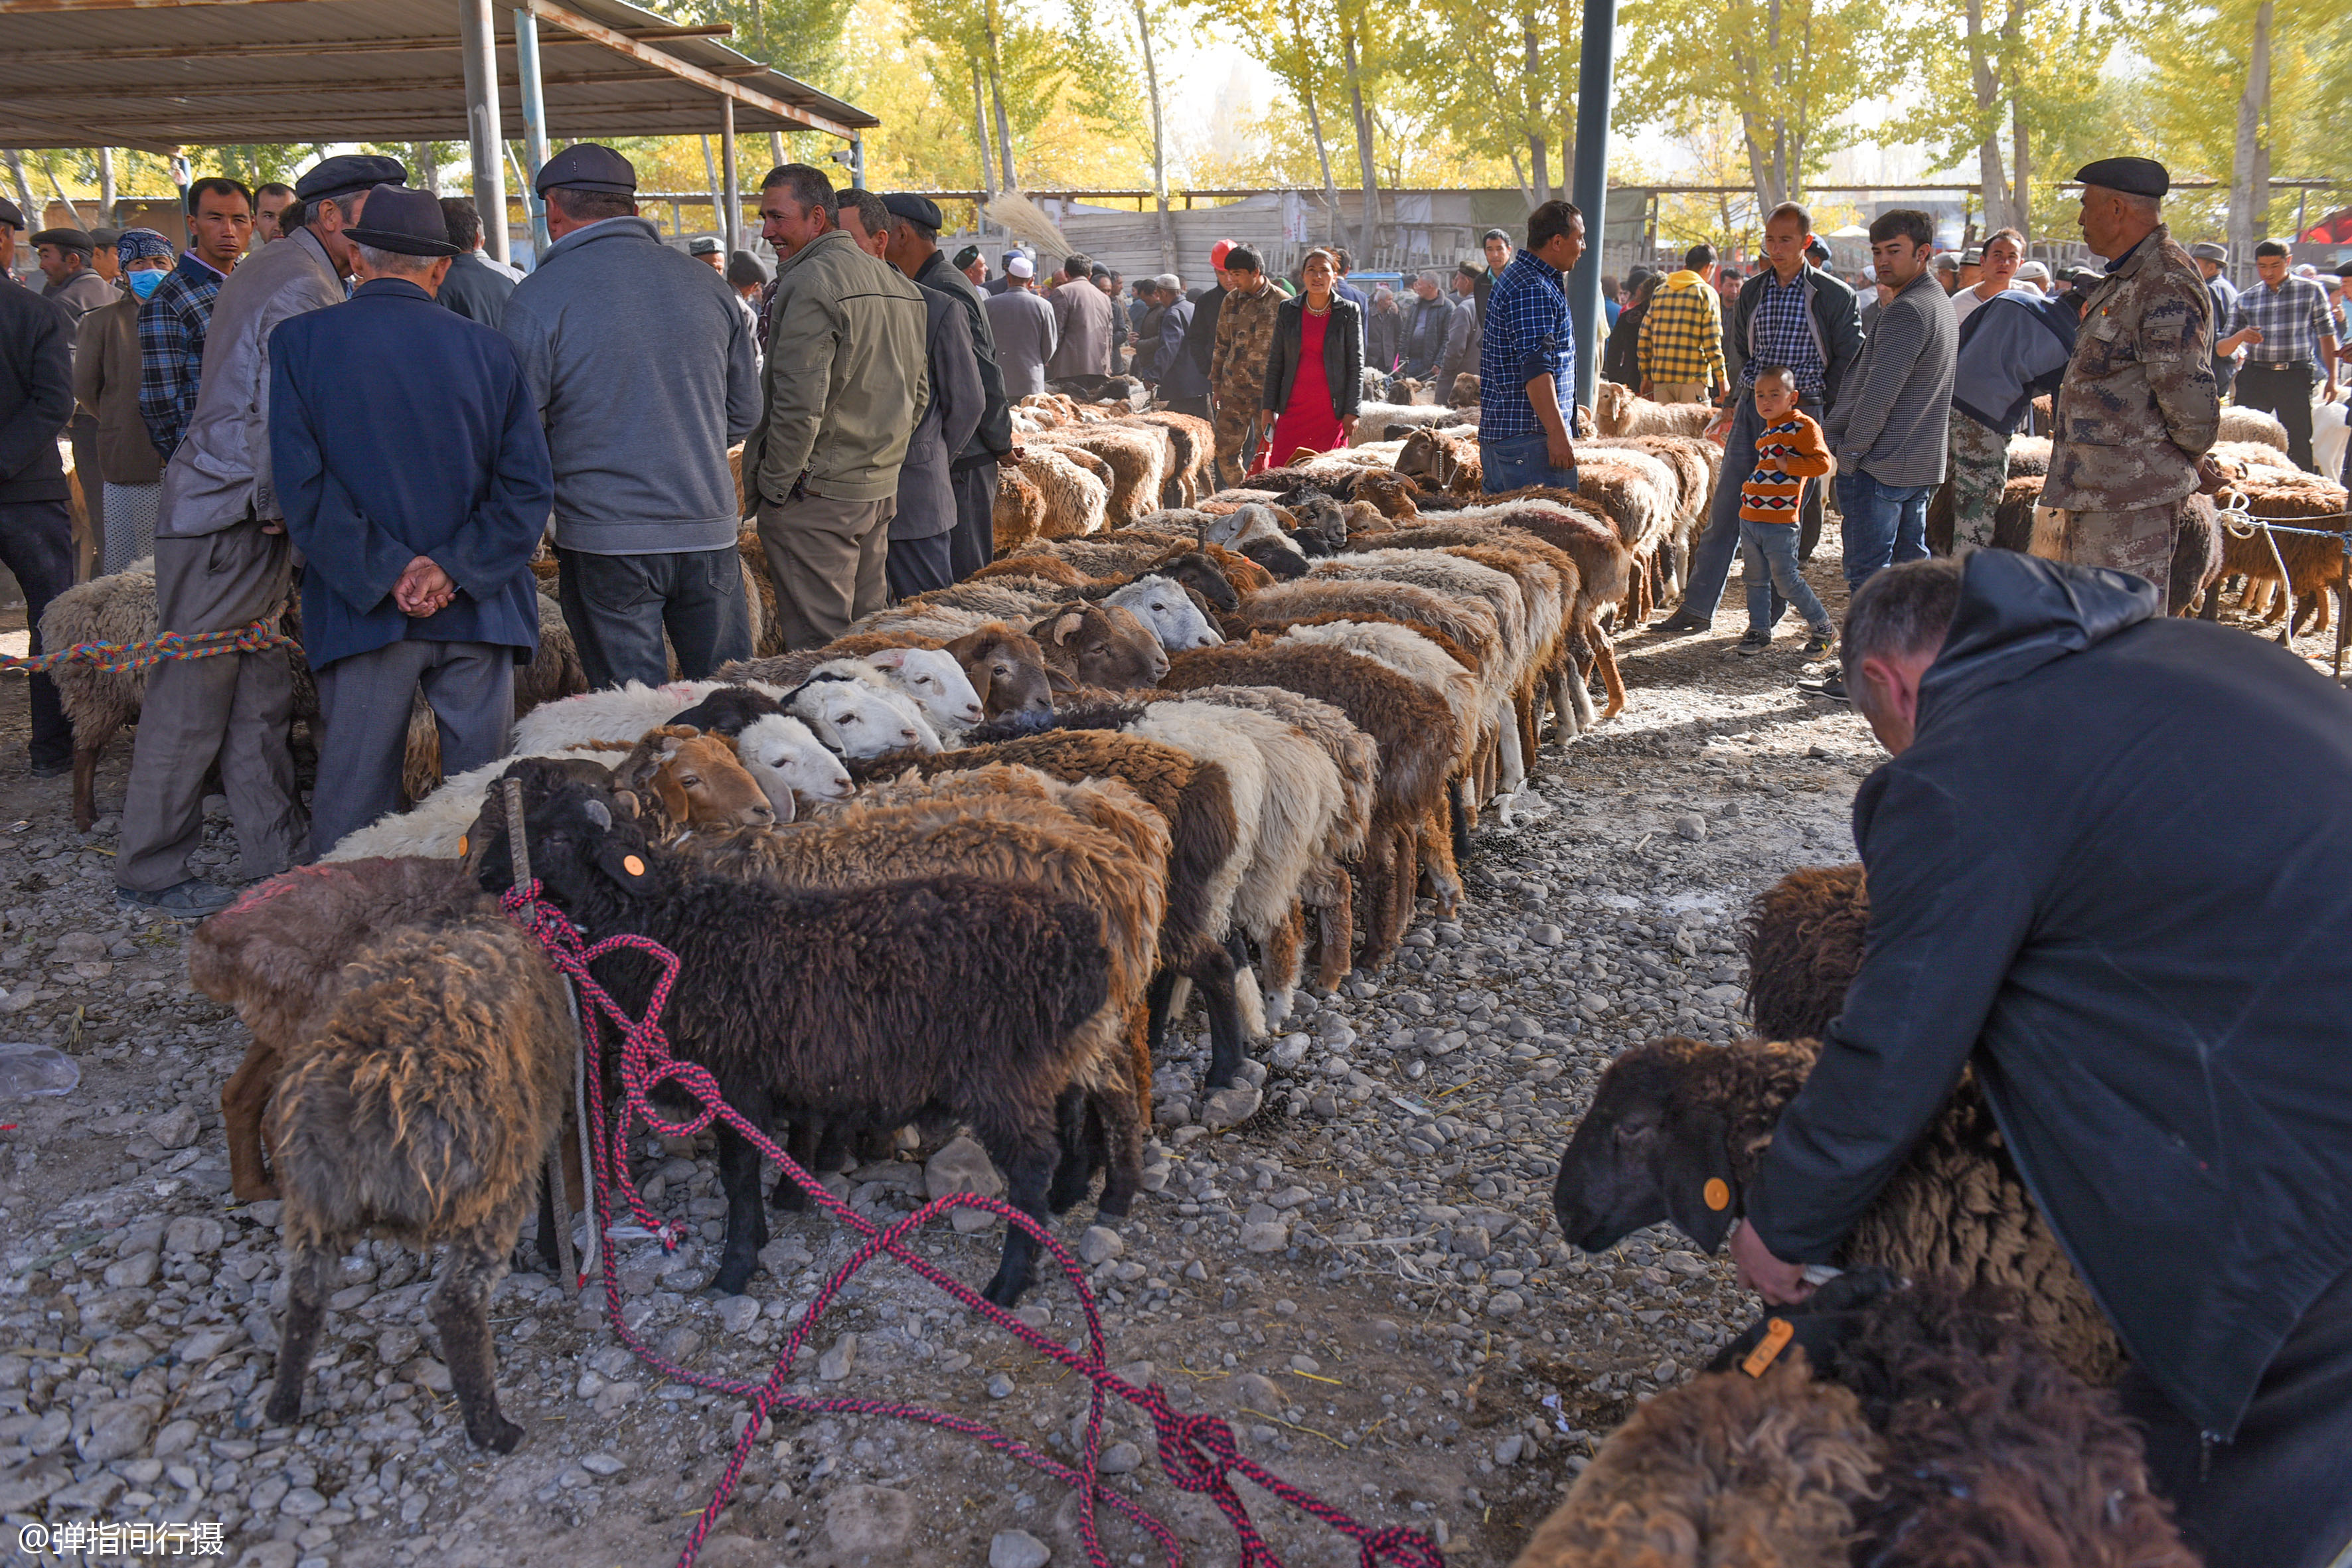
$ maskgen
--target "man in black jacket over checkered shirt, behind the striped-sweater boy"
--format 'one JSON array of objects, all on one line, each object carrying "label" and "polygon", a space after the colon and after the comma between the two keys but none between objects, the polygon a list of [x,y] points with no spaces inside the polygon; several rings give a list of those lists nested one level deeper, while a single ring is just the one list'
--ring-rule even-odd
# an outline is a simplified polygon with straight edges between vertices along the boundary
[{"label": "man in black jacket over checkered shirt, behind the striped-sweater boy", "polygon": [[[1806,261],[1811,240],[1813,214],[1797,202],[1780,202],[1764,216],[1764,259],[1771,266],[1743,282],[1731,306],[1731,341],[1743,360],[1740,386],[1724,397],[1722,414],[1708,428],[1710,440],[1724,442],[1724,473],[1755,468],[1757,440],[1764,435],[1755,411],[1755,369],[1785,364],[1797,376],[1797,411],[1818,423],[1837,397],[1846,369],[1863,353],[1863,315],[1853,289]],[[1797,559],[1806,559],[1820,541],[1823,489],[1828,487],[1804,487]],[[1682,607],[1653,630],[1670,637],[1708,630],[1738,548],[1740,487],[1717,484],[1708,531],[1691,550]]]}]

